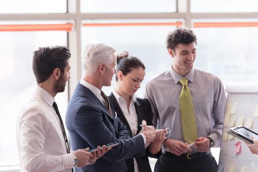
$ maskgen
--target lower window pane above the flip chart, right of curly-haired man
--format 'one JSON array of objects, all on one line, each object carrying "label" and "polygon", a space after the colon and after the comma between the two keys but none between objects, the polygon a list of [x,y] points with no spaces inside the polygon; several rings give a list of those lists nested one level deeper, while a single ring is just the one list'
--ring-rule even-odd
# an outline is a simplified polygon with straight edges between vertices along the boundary
[{"label": "lower window pane above the flip chart, right of curly-haired man", "polygon": [[[200,22],[201,20],[194,20]],[[211,23],[212,21],[210,21]],[[216,27],[220,22],[224,27]],[[232,25],[242,27],[232,27]],[[195,66],[218,75],[223,83],[256,82],[258,78],[258,23],[216,20],[212,28],[194,28],[197,35]],[[246,25],[246,27],[244,27]]]}]

